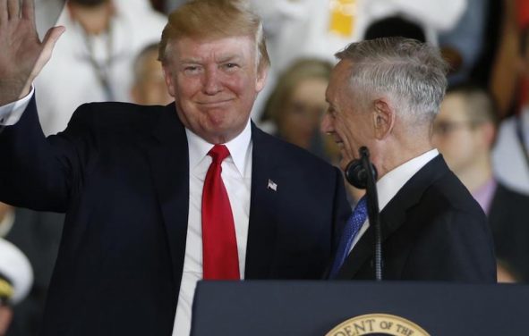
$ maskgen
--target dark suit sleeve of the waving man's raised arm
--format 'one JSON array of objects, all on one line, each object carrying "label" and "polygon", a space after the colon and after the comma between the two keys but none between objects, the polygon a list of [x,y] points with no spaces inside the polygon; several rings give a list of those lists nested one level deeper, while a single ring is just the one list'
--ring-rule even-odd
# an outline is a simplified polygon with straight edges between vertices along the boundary
[{"label": "dark suit sleeve of the waving man's raised arm", "polygon": [[66,131],[46,138],[31,98],[21,120],[0,134],[0,200],[35,210],[66,210],[87,156],[81,133],[89,128],[83,126],[82,114],[74,113]]}]

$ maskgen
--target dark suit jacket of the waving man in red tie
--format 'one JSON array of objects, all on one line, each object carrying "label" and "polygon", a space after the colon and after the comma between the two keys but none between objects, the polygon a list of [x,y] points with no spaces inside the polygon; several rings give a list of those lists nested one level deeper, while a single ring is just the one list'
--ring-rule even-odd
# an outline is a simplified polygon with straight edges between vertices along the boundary
[{"label": "dark suit jacket of the waving man in red tie", "polygon": [[[252,144],[244,276],[318,279],[350,212],[341,174],[254,126]],[[170,335],[189,207],[175,105],[82,105],[46,140],[32,100],[0,153],[0,199],[66,212],[42,334]]]}]

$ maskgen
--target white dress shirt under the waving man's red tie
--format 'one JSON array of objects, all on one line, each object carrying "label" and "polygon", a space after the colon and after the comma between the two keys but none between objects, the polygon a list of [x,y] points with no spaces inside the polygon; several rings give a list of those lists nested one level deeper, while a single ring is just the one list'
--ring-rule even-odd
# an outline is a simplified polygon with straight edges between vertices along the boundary
[{"label": "white dress shirt under the waving man's red tie", "polygon": [[[197,281],[202,279],[202,188],[206,172],[211,164],[211,156],[208,152],[213,147],[191,130],[186,129],[185,132],[189,144],[189,219],[173,336],[189,335],[194,290]],[[234,214],[239,271],[243,279],[252,187],[252,128],[250,122],[246,124],[241,134],[225,145],[230,155],[222,162],[221,176]]]}]

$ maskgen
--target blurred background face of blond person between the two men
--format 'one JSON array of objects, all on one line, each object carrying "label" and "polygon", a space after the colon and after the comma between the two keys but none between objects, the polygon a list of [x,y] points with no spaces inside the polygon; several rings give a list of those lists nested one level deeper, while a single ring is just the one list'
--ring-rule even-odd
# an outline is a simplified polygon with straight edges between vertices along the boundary
[{"label": "blurred background face of blond person between the two men", "polygon": [[299,147],[311,146],[328,106],[325,101],[327,83],[322,78],[305,79],[293,88],[284,110],[278,114],[277,127],[283,139]]}]

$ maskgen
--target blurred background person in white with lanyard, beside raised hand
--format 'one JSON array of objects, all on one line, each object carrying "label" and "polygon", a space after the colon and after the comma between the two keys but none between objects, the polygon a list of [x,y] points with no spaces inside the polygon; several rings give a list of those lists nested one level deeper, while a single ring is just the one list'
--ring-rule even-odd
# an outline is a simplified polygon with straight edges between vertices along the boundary
[{"label": "blurred background person in white with lanyard, beside raised hand", "polygon": [[83,103],[131,102],[134,57],[158,41],[166,17],[148,0],[69,0],[56,24],[66,31],[34,83],[46,135]]}]

